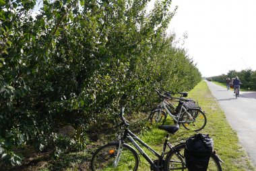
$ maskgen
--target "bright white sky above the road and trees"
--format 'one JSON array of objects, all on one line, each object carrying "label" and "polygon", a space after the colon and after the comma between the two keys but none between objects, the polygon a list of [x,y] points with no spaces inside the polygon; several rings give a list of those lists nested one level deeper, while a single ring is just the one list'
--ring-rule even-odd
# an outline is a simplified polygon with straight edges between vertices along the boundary
[{"label": "bright white sky above the road and trees", "polygon": [[168,32],[186,33],[190,58],[202,76],[256,70],[255,0],[172,0],[178,6]]}]

